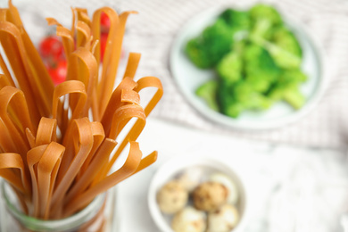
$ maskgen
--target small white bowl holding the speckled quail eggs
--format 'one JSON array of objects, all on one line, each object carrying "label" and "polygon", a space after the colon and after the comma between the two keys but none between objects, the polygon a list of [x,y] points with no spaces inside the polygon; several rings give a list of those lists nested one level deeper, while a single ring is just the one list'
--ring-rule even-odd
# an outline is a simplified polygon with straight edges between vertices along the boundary
[{"label": "small white bowl holding the speckled quail eggs", "polygon": [[166,162],[162,165],[162,167],[157,170],[155,175],[153,176],[153,180],[149,187],[148,192],[148,206],[153,217],[153,220],[158,228],[163,232],[173,232],[170,228],[170,220],[171,217],[162,213],[159,208],[159,205],[156,200],[156,195],[160,188],[167,183],[170,179],[175,178],[178,173],[187,168],[193,167],[202,167],[204,170],[211,171],[220,171],[226,174],[229,178],[231,178],[236,184],[236,188],[239,194],[238,203],[236,205],[238,212],[240,214],[240,220],[232,232],[240,232],[243,231],[245,226],[245,221],[247,220],[248,215],[248,196],[246,187],[244,185],[244,181],[242,177],[239,176],[235,170],[232,170],[227,164],[222,161],[216,160],[211,157],[203,157],[203,156],[189,156],[189,155],[179,155],[175,158],[170,159],[170,161]]}]

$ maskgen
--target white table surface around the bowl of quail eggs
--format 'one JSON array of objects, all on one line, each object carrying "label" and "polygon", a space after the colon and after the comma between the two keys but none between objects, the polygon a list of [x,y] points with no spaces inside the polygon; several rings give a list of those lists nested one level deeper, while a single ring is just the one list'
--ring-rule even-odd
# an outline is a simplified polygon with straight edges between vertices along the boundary
[{"label": "white table surface around the bowl of quail eggs", "polygon": [[148,210],[148,187],[163,162],[183,153],[213,155],[242,174],[251,193],[245,231],[342,231],[348,209],[344,151],[236,140],[151,117],[138,142],[144,155],[157,150],[159,158],[118,186],[120,232],[159,231]]}]

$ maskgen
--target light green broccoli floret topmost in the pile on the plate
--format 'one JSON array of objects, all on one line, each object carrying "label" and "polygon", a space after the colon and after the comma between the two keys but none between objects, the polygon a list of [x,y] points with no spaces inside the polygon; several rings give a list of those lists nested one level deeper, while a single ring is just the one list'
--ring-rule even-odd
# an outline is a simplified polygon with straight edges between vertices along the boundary
[{"label": "light green broccoli floret topmost in the pile on the plate", "polygon": [[255,37],[268,39],[272,34],[272,29],[283,24],[278,11],[268,4],[255,4],[250,9],[250,17],[252,20],[251,34]]}]

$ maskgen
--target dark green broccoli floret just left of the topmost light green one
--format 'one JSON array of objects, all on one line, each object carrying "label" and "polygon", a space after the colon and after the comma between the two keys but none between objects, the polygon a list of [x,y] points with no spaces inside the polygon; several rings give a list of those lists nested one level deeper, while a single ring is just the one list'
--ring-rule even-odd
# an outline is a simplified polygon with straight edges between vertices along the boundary
[{"label": "dark green broccoli floret just left of the topmost light green one", "polygon": [[248,11],[236,11],[229,8],[220,14],[220,19],[226,21],[226,23],[236,31],[247,30],[250,29],[251,26]]}]

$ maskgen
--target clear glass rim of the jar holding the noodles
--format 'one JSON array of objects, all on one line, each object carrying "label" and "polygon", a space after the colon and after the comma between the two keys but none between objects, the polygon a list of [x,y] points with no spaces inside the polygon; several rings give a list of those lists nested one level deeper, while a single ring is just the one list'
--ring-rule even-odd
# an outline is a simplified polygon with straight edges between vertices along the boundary
[{"label": "clear glass rim of the jar holding the noodles", "polygon": [[[39,220],[21,212],[18,207],[11,202],[6,193],[6,191],[11,191],[9,184],[1,178],[0,183],[5,207],[10,211],[10,213],[12,213],[16,220],[21,222],[22,225],[35,231],[69,231],[70,229],[78,228],[84,222],[95,217],[96,213],[102,208],[105,199],[105,193],[97,195],[83,210],[62,220]],[[8,189],[6,190],[6,188]],[[54,229],[51,230],[51,228]]]}]

